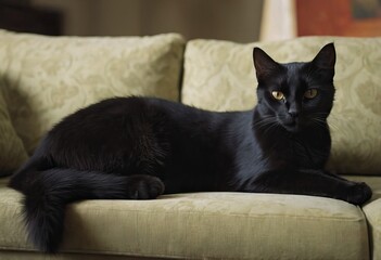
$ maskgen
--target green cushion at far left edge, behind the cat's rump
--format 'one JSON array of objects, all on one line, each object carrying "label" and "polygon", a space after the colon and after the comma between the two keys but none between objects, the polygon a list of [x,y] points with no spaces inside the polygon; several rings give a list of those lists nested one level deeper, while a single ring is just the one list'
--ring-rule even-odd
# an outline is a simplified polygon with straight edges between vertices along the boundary
[{"label": "green cushion at far left edge, behind the cat's rump", "polygon": [[23,142],[13,129],[0,80],[0,177],[11,174],[26,159]]}]

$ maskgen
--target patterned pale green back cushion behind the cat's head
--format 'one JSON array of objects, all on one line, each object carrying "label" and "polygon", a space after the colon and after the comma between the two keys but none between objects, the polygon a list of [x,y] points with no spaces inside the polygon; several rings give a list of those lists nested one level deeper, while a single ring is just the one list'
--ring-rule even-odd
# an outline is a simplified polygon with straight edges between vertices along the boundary
[{"label": "patterned pale green back cushion behind the cat's head", "polygon": [[334,42],[336,95],[329,117],[332,156],[328,168],[350,174],[381,174],[381,38],[306,37],[239,44],[193,40],[187,44],[182,102],[212,110],[250,109],[256,103],[252,52],[276,61],[312,61]]}]

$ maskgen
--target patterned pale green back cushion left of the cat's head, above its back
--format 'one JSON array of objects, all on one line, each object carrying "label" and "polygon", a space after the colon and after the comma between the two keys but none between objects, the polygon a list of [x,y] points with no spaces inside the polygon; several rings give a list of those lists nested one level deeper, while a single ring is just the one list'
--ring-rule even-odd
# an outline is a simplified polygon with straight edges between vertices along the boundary
[{"label": "patterned pale green back cushion left of the cat's head, above its back", "polygon": [[0,77],[28,153],[67,114],[120,95],[179,99],[183,39],[47,37],[0,30]]}]

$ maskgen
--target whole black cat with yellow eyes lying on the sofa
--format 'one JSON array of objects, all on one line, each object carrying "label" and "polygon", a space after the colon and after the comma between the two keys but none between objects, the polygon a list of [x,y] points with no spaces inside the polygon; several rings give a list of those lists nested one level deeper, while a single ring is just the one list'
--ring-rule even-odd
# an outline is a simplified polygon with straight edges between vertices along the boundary
[{"label": "whole black cat with yellow eyes lying on the sofa", "polygon": [[25,195],[36,247],[58,250],[65,206],[80,199],[225,191],[368,200],[368,185],[323,170],[331,148],[333,43],[308,63],[279,64],[258,48],[253,55],[258,103],[252,110],[116,98],[58,123],[9,184]]}]

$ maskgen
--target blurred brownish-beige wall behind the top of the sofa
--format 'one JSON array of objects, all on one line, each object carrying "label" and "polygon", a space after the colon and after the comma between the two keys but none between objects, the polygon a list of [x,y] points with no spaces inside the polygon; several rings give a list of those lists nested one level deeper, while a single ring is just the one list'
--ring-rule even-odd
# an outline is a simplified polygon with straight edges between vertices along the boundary
[{"label": "blurred brownish-beige wall behind the top of the sofa", "polygon": [[65,35],[154,35],[249,42],[258,39],[263,0],[31,0],[64,13]]}]

